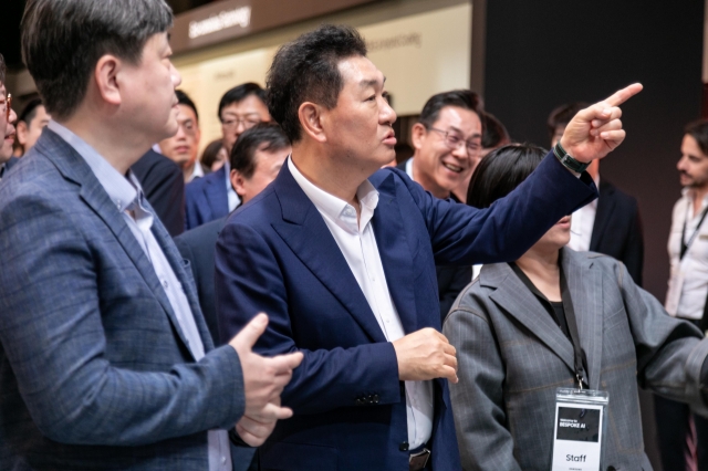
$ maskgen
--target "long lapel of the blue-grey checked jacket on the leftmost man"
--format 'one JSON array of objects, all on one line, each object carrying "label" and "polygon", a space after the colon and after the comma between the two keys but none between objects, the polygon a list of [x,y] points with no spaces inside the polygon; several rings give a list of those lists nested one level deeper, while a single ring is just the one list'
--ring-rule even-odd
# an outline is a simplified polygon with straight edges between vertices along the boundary
[{"label": "long lapel of the blue-grey checked jacket on the leftmost man", "polygon": [[[48,136],[48,142],[51,140],[50,146],[53,145],[56,147],[56,149],[50,149],[46,151],[45,156],[56,165],[56,168],[65,178],[81,185],[81,190],[79,192],[80,197],[104,221],[111,232],[113,232],[115,238],[118,240],[118,243],[121,243],[125,250],[125,253],[143,276],[147,286],[150,289],[153,294],[155,294],[155,297],[157,297],[160,305],[167,313],[167,316],[173,323],[173,326],[181,342],[185,345],[188,345],[187,339],[179,327],[179,323],[177,322],[173,307],[169,304],[169,300],[155,274],[155,269],[123,219],[123,214],[118,211],[115,203],[111,201],[108,193],[106,193],[101,186],[101,182],[91,171],[91,167],[88,167],[73,147],[50,129],[45,129],[43,135]],[[155,220],[157,220],[157,218],[155,218]]]}]

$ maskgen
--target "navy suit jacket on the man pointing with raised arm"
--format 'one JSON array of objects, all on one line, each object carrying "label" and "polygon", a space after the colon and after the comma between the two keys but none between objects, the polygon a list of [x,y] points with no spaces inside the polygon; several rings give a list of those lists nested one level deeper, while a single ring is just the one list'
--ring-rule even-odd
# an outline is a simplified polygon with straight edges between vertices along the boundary
[{"label": "navy suit jacket on the man pointing with raised arm", "polygon": [[[440,329],[435,266],[518,259],[551,226],[596,197],[549,155],[491,209],[431,197],[397,169],[369,181],[372,219],[389,292],[406,334]],[[217,242],[217,312],[223,338],[259,312],[270,316],[256,349],[300,350],[278,422],[259,448],[261,469],[408,470],[406,401],[393,344],[322,216],[288,165],[227,221]],[[460,371],[461,375],[465,371]],[[434,380],[433,469],[460,469],[446,380]]]}]

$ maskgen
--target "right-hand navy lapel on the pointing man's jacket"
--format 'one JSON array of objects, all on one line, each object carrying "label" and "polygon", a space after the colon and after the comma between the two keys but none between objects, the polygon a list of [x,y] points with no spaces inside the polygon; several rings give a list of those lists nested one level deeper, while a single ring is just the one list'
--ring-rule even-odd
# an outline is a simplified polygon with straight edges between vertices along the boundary
[{"label": "right-hand navy lapel on the pointing man's jacket", "polygon": [[[398,311],[404,332],[410,334],[421,326],[418,325],[416,315],[412,245],[406,241],[410,236],[406,234],[403,226],[395,185],[394,174],[391,174],[378,186],[378,206],[374,211],[372,223],[388,292]],[[439,316],[434,317],[439,320]],[[440,328],[438,324],[435,327]]]}]

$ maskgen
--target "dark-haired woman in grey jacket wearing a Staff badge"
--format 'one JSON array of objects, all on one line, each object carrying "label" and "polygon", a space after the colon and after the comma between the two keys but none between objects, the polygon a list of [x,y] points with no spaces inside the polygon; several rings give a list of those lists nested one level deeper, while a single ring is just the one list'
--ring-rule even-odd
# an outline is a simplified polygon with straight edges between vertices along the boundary
[{"label": "dark-haired woman in grey jacket wearing a Staff badge", "polygon": [[[467,203],[491,206],[544,155],[528,145],[489,154]],[[445,321],[458,355],[450,394],[466,470],[650,470],[637,383],[708,414],[708,341],[666,315],[621,262],[574,252],[569,240],[565,217],[519,260],[485,265]],[[563,394],[603,406],[560,407]]]}]

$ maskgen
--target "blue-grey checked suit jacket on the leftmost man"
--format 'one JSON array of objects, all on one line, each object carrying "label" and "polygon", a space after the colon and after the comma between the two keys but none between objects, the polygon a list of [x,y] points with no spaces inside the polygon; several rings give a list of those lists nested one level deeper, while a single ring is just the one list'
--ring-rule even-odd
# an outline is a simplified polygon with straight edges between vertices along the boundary
[{"label": "blue-grey checked suit jacket on the leftmost man", "polygon": [[90,167],[45,129],[0,182],[0,470],[208,469],[243,412],[233,348],[195,362],[155,271]]}]

